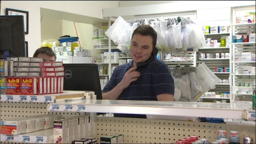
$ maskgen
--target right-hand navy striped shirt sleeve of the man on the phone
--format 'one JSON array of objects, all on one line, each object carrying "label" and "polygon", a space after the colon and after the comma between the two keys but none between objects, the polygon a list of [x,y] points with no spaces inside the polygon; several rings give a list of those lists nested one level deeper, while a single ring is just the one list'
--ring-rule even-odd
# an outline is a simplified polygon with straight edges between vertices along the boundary
[{"label": "right-hand navy striped shirt sleeve of the man on the phone", "polygon": [[154,71],[154,89],[156,96],[160,94],[174,95],[174,80],[168,65],[161,65]]}]

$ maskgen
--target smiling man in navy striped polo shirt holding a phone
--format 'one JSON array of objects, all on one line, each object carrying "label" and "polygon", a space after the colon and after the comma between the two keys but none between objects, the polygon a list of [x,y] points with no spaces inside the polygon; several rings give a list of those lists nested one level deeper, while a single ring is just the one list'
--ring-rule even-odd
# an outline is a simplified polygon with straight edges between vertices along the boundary
[{"label": "smiling man in navy striped polo shirt holding a phone", "polygon": [[156,43],[157,33],[152,27],[142,25],[134,30],[132,61],[114,69],[102,91],[103,99],[173,101],[174,80],[163,61],[154,58],[148,64],[136,66],[151,57]]}]

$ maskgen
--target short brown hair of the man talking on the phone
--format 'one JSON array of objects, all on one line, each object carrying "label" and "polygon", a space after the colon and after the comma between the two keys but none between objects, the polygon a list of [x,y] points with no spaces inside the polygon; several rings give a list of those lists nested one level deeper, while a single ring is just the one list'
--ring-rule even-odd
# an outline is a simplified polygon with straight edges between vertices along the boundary
[{"label": "short brown hair of the man talking on the phone", "polygon": [[153,29],[153,27],[148,26],[148,25],[139,26],[134,30],[132,39],[135,34],[140,34],[143,36],[149,35],[153,39],[153,41],[152,41],[153,48],[157,45],[157,32]]}]

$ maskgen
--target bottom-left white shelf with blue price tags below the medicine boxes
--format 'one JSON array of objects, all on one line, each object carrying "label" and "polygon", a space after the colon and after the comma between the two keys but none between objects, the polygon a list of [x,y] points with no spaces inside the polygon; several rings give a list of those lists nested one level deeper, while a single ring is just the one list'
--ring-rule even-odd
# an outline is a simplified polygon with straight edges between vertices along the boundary
[{"label": "bottom-left white shelf with blue price tags below the medicine boxes", "polygon": [[19,135],[0,134],[1,142],[53,143],[53,128]]}]

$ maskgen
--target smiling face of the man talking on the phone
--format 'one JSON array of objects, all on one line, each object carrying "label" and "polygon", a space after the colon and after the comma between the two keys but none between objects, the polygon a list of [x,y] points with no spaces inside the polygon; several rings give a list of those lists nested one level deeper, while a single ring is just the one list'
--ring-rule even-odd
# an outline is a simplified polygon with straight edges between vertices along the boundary
[{"label": "smiling face of the man talking on the phone", "polygon": [[135,34],[131,42],[131,57],[133,63],[139,63],[146,61],[153,50],[153,38],[149,35],[142,36],[140,34]]}]

